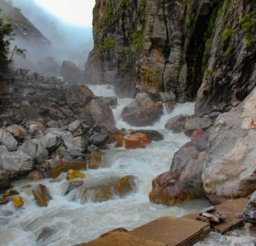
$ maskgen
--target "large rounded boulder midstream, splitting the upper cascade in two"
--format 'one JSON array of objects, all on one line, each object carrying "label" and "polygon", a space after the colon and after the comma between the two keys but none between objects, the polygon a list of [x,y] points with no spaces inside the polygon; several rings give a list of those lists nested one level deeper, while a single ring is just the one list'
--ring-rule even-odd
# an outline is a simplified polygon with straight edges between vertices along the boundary
[{"label": "large rounded boulder midstream, splitting the upper cascade in two", "polygon": [[153,125],[162,114],[162,103],[155,103],[149,93],[138,93],[122,111],[123,121],[135,126]]}]

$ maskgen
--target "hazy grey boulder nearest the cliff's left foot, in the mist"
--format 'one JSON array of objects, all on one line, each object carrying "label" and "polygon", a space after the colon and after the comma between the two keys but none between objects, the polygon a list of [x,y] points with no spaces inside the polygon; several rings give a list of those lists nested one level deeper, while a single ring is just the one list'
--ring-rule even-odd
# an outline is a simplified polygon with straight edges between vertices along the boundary
[{"label": "hazy grey boulder nearest the cliff's left foot, in the mist", "polygon": [[80,70],[73,62],[62,63],[62,77],[66,84],[78,84],[85,82],[85,72]]}]

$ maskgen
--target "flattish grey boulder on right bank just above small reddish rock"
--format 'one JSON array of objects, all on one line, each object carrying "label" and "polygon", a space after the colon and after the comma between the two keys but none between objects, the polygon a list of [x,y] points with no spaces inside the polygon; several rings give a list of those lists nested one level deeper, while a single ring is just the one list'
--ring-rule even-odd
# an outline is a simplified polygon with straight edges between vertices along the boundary
[{"label": "flattish grey boulder on right bank just above small reddish rock", "polygon": [[185,123],[184,133],[188,137],[190,137],[194,130],[202,129],[205,131],[212,125],[214,125],[214,121],[210,119],[208,116],[205,116],[203,118],[191,117]]}]

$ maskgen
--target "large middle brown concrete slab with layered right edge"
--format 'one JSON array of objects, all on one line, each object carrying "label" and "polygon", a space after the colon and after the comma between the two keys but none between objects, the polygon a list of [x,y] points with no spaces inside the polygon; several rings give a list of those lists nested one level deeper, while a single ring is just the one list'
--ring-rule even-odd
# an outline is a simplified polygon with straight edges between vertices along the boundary
[{"label": "large middle brown concrete slab with layered right edge", "polygon": [[203,240],[209,232],[209,223],[167,216],[151,221],[127,233],[160,242],[166,246],[185,246]]}]

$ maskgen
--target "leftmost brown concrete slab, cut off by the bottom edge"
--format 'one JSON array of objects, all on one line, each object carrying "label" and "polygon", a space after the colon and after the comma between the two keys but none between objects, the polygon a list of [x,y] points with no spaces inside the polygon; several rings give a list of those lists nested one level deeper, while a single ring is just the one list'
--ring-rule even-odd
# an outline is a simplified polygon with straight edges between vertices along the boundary
[{"label": "leftmost brown concrete slab, cut off by the bottom edge", "polygon": [[79,246],[165,246],[165,244],[146,240],[127,232],[113,232]]}]

